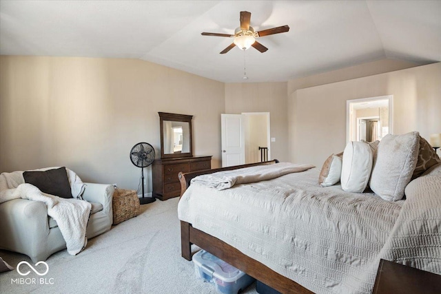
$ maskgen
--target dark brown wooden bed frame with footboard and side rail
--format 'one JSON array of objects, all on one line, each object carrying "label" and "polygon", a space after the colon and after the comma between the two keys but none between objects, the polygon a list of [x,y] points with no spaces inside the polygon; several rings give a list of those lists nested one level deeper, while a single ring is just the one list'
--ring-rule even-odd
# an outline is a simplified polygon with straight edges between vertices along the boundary
[{"label": "dark brown wooden bed frame with footboard and side rail", "polygon": [[[212,174],[216,171],[227,171],[232,169],[240,169],[243,167],[252,167],[256,165],[272,165],[277,163],[278,160],[271,160],[265,162],[258,162],[250,165],[236,165],[234,167],[224,167],[220,169],[207,169],[205,171],[194,171],[192,173],[179,173],[179,180],[181,181],[181,196],[189,187],[190,180],[196,176],[202,174]],[[230,246],[229,244],[213,237],[203,231],[195,229],[192,224],[181,221],[181,253],[182,257],[186,260],[192,260],[192,244],[205,249],[209,253],[216,255],[221,260],[232,264],[240,271],[251,275],[256,280],[271,286],[280,293],[313,293],[307,288],[300,286],[293,280],[289,280],[287,277],[276,273],[268,266],[249,258],[247,255],[238,251],[238,249]]]}]

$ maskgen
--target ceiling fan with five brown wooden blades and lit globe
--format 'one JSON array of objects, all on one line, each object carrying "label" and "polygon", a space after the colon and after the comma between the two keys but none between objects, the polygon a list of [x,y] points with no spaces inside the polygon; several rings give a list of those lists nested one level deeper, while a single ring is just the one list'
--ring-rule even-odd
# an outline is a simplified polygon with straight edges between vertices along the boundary
[{"label": "ceiling fan with five brown wooden blades and lit globe", "polygon": [[249,25],[249,21],[251,20],[251,12],[241,11],[240,12],[240,27],[234,30],[234,34],[218,34],[216,32],[203,32],[201,33],[203,36],[226,36],[229,38],[234,38],[234,42],[229,45],[227,48],[222,50],[220,54],[225,54],[229,50],[232,50],[234,46],[238,46],[238,48],[242,50],[247,50],[250,46],[253,46],[261,53],[268,50],[264,45],[258,43],[256,38],[260,36],[269,36],[270,34],[279,34],[281,32],[288,32],[289,26],[282,25],[281,27],[271,28],[268,30],[261,30],[259,32],[254,32],[252,26]]}]

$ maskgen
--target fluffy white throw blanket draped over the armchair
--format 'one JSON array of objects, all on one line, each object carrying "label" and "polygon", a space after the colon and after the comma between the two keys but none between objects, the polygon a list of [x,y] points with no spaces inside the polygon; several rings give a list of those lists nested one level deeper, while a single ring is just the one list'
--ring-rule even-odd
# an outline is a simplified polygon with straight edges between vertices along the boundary
[{"label": "fluffy white throw blanket draped over the armchair", "polygon": [[[76,176],[72,180],[81,182],[76,178],[78,177]],[[72,191],[77,190],[81,189],[79,187],[72,189]],[[74,198],[65,199],[43,193],[34,185],[25,184],[23,173],[20,171],[0,174],[0,203],[18,198],[43,202],[48,208],[48,216],[54,218],[58,224],[66,242],[68,253],[76,255],[83,250],[88,242],[86,227],[92,208],[89,202]]]}]

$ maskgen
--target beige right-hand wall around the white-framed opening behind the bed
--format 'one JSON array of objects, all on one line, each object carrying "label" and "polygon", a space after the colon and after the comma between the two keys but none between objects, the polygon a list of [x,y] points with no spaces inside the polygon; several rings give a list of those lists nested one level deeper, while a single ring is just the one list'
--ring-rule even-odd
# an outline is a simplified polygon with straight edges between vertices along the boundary
[{"label": "beige right-hand wall around the white-framed opening behind the bed", "polygon": [[[293,162],[321,167],[346,145],[346,101],[393,95],[393,133],[441,132],[441,63],[297,90],[289,96]],[[294,108],[295,107],[295,108]]]}]

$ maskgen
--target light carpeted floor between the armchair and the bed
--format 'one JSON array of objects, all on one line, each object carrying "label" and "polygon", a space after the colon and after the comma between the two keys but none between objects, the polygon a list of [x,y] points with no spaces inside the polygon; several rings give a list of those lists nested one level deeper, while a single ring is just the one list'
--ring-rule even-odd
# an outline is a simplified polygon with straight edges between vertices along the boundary
[{"label": "light carpeted floor between the armchair and the bed", "polygon": [[[17,284],[16,270],[0,273],[0,293],[216,293],[181,258],[177,207],[178,198],[141,205],[139,216],[92,238],[79,255],[51,255],[44,277],[31,271],[30,280]],[[0,256],[14,268],[23,260],[32,264],[17,253],[0,250]],[[243,293],[257,293],[255,283]]]}]

